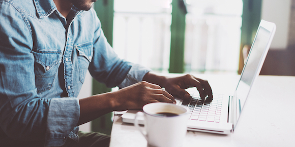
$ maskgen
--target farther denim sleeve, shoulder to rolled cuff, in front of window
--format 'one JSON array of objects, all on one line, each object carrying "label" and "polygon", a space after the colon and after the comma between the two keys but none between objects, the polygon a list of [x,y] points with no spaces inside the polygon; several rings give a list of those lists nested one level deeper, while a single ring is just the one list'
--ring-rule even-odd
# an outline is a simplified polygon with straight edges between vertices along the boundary
[{"label": "farther denim sleeve, shoulder to rolled cuff, in front of window", "polygon": [[142,81],[145,73],[151,69],[120,59],[108,44],[97,17],[95,23],[94,57],[88,68],[92,77],[107,87],[122,88]]}]

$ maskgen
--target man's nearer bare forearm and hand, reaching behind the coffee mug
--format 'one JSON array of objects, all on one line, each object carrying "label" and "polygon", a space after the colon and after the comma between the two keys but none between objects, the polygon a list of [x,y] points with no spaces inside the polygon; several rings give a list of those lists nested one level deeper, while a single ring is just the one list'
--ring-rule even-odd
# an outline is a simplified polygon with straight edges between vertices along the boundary
[{"label": "man's nearer bare forearm and hand, reaching behind the coffee mug", "polygon": [[112,111],[140,109],[152,102],[175,103],[175,100],[159,85],[142,81],[114,92],[82,98],[79,102],[80,118],[77,126]]}]

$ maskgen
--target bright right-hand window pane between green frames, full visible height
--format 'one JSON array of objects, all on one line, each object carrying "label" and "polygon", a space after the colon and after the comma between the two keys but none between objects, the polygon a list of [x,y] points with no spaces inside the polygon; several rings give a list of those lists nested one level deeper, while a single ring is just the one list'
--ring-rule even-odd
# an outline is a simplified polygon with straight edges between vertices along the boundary
[{"label": "bright right-hand window pane between green frames, full visible height", "polygon": [[187,0],[186,72],[237,72],[242,0]]}]

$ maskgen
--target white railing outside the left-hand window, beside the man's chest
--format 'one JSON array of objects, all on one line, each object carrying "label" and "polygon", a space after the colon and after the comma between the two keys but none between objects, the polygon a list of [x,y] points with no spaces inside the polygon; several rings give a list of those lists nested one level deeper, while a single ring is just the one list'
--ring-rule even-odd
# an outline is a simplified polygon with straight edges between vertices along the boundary
[{"label": "white railing outside the left-hand window, beside the man's chest", "polygon": [[113,48],[128,61],[167,71],[171,14],[114,13]]}]

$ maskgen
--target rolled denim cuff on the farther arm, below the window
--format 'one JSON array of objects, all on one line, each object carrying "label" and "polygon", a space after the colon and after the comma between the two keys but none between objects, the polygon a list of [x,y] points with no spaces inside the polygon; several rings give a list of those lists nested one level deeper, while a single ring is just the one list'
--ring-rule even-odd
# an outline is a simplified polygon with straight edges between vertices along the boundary
[{"label": "rolled denim cuff on the farther arm, below the window", "polygon": [[149,71],[152,71],[152,69],[139,64],[133,64],[126,78],[118,87],[123,88],[142,81],[143,76]]}]

